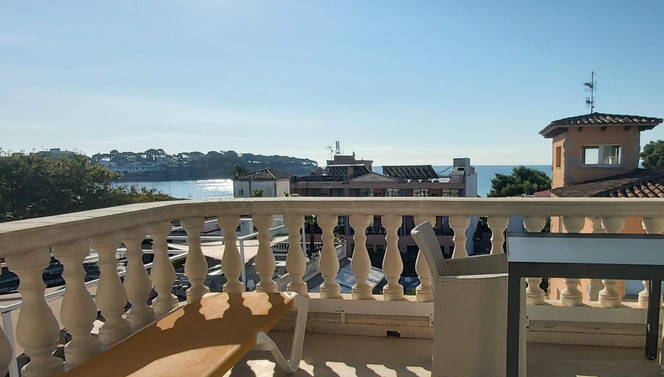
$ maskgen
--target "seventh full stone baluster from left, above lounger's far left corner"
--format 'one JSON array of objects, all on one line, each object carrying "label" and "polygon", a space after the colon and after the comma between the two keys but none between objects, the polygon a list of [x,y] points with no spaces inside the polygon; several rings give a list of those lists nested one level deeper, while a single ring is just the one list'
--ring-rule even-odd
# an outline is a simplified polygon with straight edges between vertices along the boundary
[{"label": "seventh full stone baluster from left, above lounger's far left corner", "polygon": [[224,230],[224,256],[221,258],[221,270],[226,276],[224,292],[244,292],[244,284],[240,281],[242,265],[244,261],[237,249],[237,237],[235,230],[240,225],[240,217],[237,215],[219,216],[217,222]]}]

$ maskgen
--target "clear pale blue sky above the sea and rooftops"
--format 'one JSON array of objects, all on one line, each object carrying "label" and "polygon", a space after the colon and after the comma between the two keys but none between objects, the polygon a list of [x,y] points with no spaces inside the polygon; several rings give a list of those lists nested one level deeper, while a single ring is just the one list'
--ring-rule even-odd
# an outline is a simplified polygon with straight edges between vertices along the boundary
[{"label": "clear pale blue sky above the sea and rooftops", "polygon": [[[551,121],[664,117],[664,2],[0,3],[0,148],[550,164]],[[664,139],[664,125],[642,145]]]}]

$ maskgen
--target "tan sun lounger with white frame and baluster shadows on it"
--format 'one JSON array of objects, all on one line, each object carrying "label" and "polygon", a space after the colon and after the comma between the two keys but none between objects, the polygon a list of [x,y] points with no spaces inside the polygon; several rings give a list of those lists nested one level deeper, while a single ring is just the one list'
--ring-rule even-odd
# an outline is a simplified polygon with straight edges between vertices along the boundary
[{"label": "tan sun lounger with white frame and baluster shadows on it", "polygon": [[[256,347],[271,351],[287,372],[297,370],[308,298],[291,292],[213,293],[182,306],[92,356],[65,374],[97,376],[223,376]],[[297,310],[290,360],[266,333]]]}]

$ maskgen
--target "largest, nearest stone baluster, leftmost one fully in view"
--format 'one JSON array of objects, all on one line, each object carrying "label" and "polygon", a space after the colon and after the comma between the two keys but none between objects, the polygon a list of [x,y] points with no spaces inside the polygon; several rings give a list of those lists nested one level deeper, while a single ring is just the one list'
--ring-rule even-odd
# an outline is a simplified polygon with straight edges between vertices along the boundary
[{"label": "largest, nearest stone baluster, leftmost one fully in view", "polygon": [[22,375],[57,376],[64,372],[64,364],[51,353],[58,344],[60,326],[44,299],[46,284],[42,279],[50,260],[48,249],[25,251],[5,259],[19,278],[18,291],[23,299],[16,324],[16,341],[24,348],[30,362],[21,369]]}]

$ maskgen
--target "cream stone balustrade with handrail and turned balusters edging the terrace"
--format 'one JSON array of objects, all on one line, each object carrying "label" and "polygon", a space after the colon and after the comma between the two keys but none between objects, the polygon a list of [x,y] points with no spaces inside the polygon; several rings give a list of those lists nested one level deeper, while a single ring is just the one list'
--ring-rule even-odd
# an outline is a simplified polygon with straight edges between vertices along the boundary
[{"label": "cream stone balustrade with handrail and turned balusters edging the terrace", "polygon": [[[0,224],[0,257],[10,270],[20,278],[19,292],[23,299],[19,321],[16,325],[16,341],[25,349],[31,361],[24,368],[26,376],[55,376],[65,369],[61,359],[51,356],[58,339],[58,322],[62,320],[72,335],[65,348],[66,366],[70,368],[100,349],[97,338],[90,336],[96,311],[100,310],[105,323],[100,329],[99,340],[107,347],[127,336],[139,323],[146,323],[177,306],[171,290],[175,271],[168,257],[167,235],[173,220],[181,220],[189,235],[190,255],[185,270],[192,282],[188,293],[191,298],[206,292],[204,257],[200,252],[200,230],[203,219],[218,217],[219,225],[226,233],[225,251],[222,260],[228,282],[224,289],[239,292],[244,289],[240,282],[243,261],[239,257],[234,230],[240,215],[250,215],[259,232],[259,251],[256,270],[261,279],[257,290],[274,291],[272,280],[275,270],[274,254],[270,248],[270,224],[274,215],[284,215],[289,227],[290,248],[286,270],[291,276],[289,290],[306,293],[302,274],[305,257],[300,247],[300,229],[304,214],[317,215],[323,230],[323,249],[320,256],[320,271],[324,283],[319,300],[339,299],[366,300],[367,305],[380,304],[375,300],[367,283],[371,269],[366,248],[367,229],[372,216],[379,215],[387,233],[387,248],[383,269],[388,285],[384,289],[384,301],[404,300],[399,278],[403,270],[400,258],[398,232],[402,229],[404,215],[415,216],[416,222],[435,220],[436,216],[448,216],[454,230],[454,257],[464,257],[466,229],[474,216],[486,216],[492,230],[491,253],[504,252],[504,231],[510,216],[523,216],[528,231],[540,231],[548,217],[558,217],[568,232],[580,232],[586,221],[601,219],[603,231],[619,232],[626,218],[642,218],[644,232],[661,234],[664,231],[664,199],[566,199],[566,198],[275,198],[215,200],[207,202],[146,203],[78,213],[72,216],[47,217]],[[348,216],[355,231],[352,272],[356,278],[352,295],[341,295],[335,281],[339,260],[335,252],[334,230],[338,216]],[[594,228],[593,228],[594,229]],[[154,262],[150,275],[139,267],[142,251],[140,241],[145,233],[153,240]],[[88,243],[88,240],[89,243]],[[124,285],[117,271],[116,248],[127,246],[127,275]],[[99,253],[101,276],[92,300],[83,283],[83,258],[90,246]],[[49,250],[52,250],[64,265],[66,294],[60,313],[52,313],[44,299],[42,272],[48,265]],[[203,263],[201,263],[203,262]],[[417,300],[429,301],[431,282],[421,261],[416,262],[421,285],[417,288]],[[539,289],[539,278],[529,278],[527,293],[530,304],[546,299]],[[564,305],[582,302],[578,291],[578,279],[567,279],[563,292]],[[620,302],[615,285],[604,280],[600,301],[605,306]],[[154,288],[156,299],[147,305],[147,292]],[[646,287],[647,288],[647,287]],[[617,296],[618,297],[617,297]],[[616,297],[618,301],[616,301]],[[414,299],[413,299],[414,300]],[[125,313],[127,302],[132,304]],[[412,301],[412,300],[411,300]],[[647,290],[640,294],[640,301],[647,302]],[[609,303],[609,304],[607,304]],[[393,303],[391,303],[393,304]],[[599,310],[608,310],[599,308]],[[621,309],[622,310],[622,309]],[[152,314],[154,313],[154,314]],[[125,319],[125,316],[129,319]],[[130,326],[131,323],[131,326]],[[6,368],[11,352],[0,334],[0,371]]]}]

